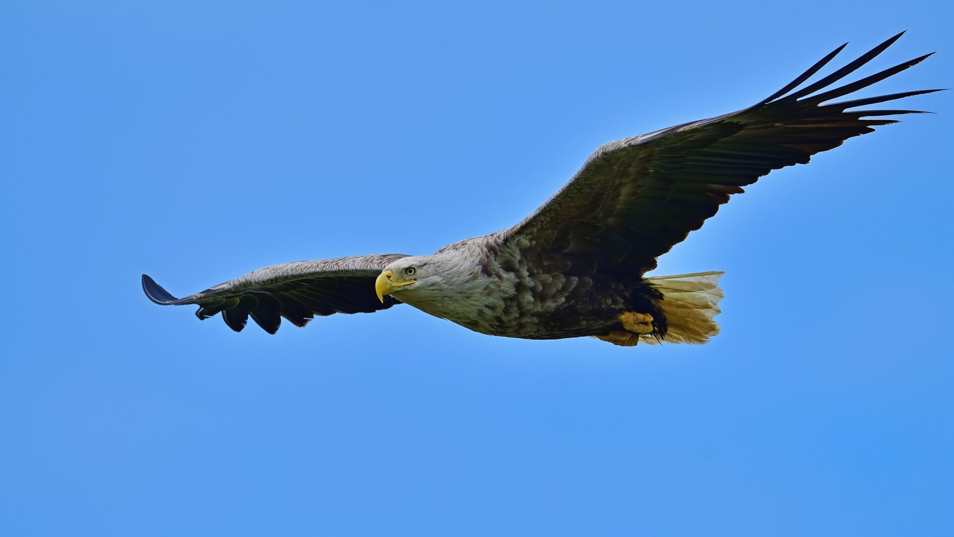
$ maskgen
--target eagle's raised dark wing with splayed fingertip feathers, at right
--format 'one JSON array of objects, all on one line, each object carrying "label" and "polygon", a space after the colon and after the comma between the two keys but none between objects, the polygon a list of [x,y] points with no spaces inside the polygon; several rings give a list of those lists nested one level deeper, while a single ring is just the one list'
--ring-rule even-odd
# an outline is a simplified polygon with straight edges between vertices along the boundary
[{"label": "eagle's raised dark wing with splayed fingertip feathers, at right", "polygon": [[902,33],[798,91],[793,90],[845,45],[752,107],[607,143],[546,204],[499,234],[499,240],[518,244],[527,261],[544,270],[601,267],[641,275],[654,269],[656,257],[701,227],[732,194],[743,192],[742,186],[774,169],[806,163],[844,140],[873,132],[872,126],[897,122],[866,118],[920,113],[845,110],[941,90],[822,103],[900,73],[930,54],[816,93],[881,54]]}]

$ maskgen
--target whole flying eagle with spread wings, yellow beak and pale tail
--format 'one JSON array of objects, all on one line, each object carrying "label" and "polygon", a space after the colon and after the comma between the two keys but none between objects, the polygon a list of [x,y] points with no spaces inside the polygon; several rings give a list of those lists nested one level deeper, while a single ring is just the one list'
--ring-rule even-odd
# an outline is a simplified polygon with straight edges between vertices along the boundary
[{"label": "whole flying eagle with spread wings, yellow beak and pale tail", "polygon": [[923,113],[857,108],[942,90],[830,102],[931,55],[833,87],[902,34],[800,89],[847,43],[753,106],[607,143],[516,226],[431,255],[273,265],[185,298],[145,274],[142,288],[159,305],[198,305],[199,319],[221,313],[236,332],[250,316],[276,333],[282,318],[303,327],[315,316],[404,303],[490,335],[593,336],[621,346],[705,343],[719,332],[714,317],[724,296],[718,287],[723,273],[646,273],[743,186],[898,122],[884,117]]}]

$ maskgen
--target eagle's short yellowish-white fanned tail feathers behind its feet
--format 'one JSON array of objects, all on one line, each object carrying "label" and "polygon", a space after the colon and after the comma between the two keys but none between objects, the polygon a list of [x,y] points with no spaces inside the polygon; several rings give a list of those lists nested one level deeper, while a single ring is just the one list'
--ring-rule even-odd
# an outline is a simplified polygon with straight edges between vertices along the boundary
[{"label": "eagle's short yellowish-white fanned tail feathers behind its feet", "polygon": [[[713,317],[721,312],[718,301],[725,297],[718,287],[718,279],[723,274],[725,272],[697,272],[646,278],[663,296],[659,307],[669,325],[664,342],[705,343],[719,332]],[[651,345],[658,343],[650,334],[641,335],[639,340]]]}]

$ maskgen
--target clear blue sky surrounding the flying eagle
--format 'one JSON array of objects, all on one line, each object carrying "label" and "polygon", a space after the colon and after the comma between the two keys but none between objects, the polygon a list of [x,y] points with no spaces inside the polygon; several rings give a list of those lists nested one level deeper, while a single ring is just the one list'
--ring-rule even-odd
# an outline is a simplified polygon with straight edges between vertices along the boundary
[{"label": "clear blue sky surrounding the flying eagle", "polygon": [[139,287],[510,226],[848,40],[941,52],[862,96],[951,86],[943,4],[4,2],[0,534],[951,535],[949,94],[662,258],[727,271],[705,346]]}]

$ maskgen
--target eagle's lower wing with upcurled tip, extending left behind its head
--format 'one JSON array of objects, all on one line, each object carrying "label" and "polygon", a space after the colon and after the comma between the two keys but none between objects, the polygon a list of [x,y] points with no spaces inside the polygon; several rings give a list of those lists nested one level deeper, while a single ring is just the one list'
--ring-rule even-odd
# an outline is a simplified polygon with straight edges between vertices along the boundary
[{"label": "eagle's lower wing with upcurled tip, extending left behind its head", "polygon": [[162,306],[198,304],[196,315],[207,319],[219,311],[229,328],[241,332],[249,315],[267,333],[276,333],[281,317],[304,326],[315,315],[386,310],[400,304],[390,295],[384,303],[374,280],[402,253],[359,255],[300,261],[253,270],[244,276],[185,298],[176,298],[142,275],[142,290]]}]

